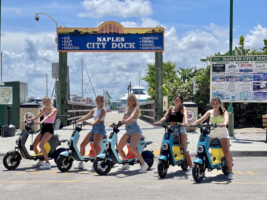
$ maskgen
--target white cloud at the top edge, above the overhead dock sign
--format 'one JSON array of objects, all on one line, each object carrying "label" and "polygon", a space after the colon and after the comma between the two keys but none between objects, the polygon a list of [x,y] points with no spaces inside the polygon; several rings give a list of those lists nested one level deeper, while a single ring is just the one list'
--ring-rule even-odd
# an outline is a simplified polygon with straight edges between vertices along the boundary
[{"label": "white cloud at the top edge, above the overhead dock sign", "polygon": [[152,14],[148,0],[85,0],[82,6],[86,12],[78,17],[101,18],[104,16],[146,17]]}]

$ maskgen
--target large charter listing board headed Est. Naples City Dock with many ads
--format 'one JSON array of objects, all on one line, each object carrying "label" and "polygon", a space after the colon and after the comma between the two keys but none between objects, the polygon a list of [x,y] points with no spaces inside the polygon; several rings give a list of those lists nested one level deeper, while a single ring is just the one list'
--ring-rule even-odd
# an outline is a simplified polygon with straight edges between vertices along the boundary
[{"label": "large charter listing board headed Est. Naples City Dock with many ads", "polygon": [[210,58],[210,99],[267,102],[267,56]]}]

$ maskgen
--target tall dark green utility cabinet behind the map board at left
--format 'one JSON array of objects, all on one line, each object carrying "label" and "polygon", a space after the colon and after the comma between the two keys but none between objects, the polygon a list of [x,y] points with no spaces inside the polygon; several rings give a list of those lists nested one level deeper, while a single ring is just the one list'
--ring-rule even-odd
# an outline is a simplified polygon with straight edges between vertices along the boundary
[{"label": "tall dark green utility cabinet behind the map board at left", "polygon": [[[28,102],[28,83],[13,81],[4,82],[4,86],[12,86],[13,104],[11,111],[10,124],[14,125],[16,129],[20,128],[20,112],[19,105]],[[2,105],[2,126],[8,124],[8,105]]]}]

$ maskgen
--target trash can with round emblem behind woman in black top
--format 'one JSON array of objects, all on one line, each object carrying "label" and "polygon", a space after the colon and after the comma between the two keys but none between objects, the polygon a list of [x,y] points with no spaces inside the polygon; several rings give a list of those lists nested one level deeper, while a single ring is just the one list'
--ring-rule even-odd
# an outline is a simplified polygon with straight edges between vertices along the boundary
[{"label": "trash can with round emblem behind woman in black top", "polygon": [[[184,102],[183,106],[187,108],[188,126],[198,120],[198,104],[193,102]],[[187,127],[187,131],[195,131],[196,127]]]}]

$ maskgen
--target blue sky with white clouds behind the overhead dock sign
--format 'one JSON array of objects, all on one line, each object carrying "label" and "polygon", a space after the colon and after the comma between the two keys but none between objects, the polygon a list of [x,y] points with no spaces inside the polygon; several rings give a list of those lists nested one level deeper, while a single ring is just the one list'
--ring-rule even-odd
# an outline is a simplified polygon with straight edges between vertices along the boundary
[{"label": "blue sky with white clouds behind the overhead dock sign", "polygon": [[[245,37],[246,48],[263,47],[267,38],[264,0],[235,0],[233,46]],[[193,65],[203,67],[199,60],[215,52],[229,49],[229,0],[86,0],[86,1],[2,1],[1,52],[3,52],[3,82],[28,83],[28,94],[42,97],[51,78],[51,63],[58,62],[54,37],[55,23],[47,12],[65,27],[97,27],[106,21],[116,21],[124,27],[165,28],[163,60],[177,63],[177,68]],[[68,53],[70,92],[81,94],[81,58],[89,74],[96,95],[107,88],[112,99],[127,92],[129,82],[134,86],[145,76],[147,63],[154,63],[154,53]],[[138,59],[136,59],[138,58]],[[84,88],[88,76],[84,69]],[[101,81],[99,81],[101,80]],[[53,84],[49,90],[52,94]],[[141,81],[141,86],[147,88]],[[90,83],[85,97],[93,97]]]}]

